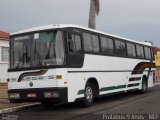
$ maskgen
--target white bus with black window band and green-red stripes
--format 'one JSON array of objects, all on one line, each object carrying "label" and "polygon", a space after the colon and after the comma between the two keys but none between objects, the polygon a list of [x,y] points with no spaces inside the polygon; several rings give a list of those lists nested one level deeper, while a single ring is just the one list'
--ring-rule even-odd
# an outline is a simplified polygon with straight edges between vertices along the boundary
[{"label": "white bus with black window band and green-red stripes", "polygon": [[11,102],[66,103],[154,86],[152,45],[78,25],[47,25],[10,37]]}]

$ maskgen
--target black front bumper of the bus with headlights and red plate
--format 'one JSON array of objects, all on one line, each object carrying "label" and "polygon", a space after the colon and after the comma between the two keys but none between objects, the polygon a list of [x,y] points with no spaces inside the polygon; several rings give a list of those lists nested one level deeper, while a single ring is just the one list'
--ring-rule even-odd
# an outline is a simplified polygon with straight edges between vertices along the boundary
[{"label": "black front bumper of the bus with headlights and red plate", "polygon": [[67,87],[10,89],[8,90],[10,102],[68,102]]}]

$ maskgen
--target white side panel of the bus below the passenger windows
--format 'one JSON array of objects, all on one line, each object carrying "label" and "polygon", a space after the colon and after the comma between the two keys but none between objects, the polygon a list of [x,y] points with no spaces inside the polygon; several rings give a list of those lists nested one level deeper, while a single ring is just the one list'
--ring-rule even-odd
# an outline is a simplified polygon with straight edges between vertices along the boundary
[{"label": "white side panel of the bus below the passenger windows", "polygon": [[[147,67],[135,72],[141,62],[149,63],[149,60],[85,54],[82,68],[68,69],[69,102],[84,97],[86,82],[92,78],[98,82],[100,95],[141,89],[142,77],[148,75]],[[153,77],[150,74],[148,87],[151,86]]]}]

